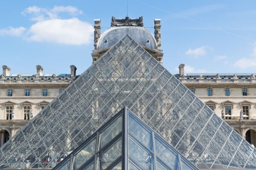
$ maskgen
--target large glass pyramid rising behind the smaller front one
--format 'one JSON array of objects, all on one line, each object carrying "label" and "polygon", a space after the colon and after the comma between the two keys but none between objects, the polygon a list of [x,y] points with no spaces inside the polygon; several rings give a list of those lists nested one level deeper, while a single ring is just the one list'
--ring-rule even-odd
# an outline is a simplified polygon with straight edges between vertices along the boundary
[{"label": "large glass pyramid rising behind the smaller front one", "polygon": [[1,147],[0,168],[52,168],[125,106],[199,168],[256,168],[256,150],[128,35]]}]

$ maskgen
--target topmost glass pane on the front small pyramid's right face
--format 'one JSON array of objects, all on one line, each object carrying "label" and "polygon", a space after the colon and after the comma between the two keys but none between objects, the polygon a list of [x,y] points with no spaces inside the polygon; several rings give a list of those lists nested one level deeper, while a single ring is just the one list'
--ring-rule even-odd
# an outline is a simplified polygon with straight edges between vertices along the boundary
[{"label": "topmost glass pane on the front small pyramid's right face", "polygon": [[152,150],[151,132],[142,123],[137,122],[130,112],[128,118],[128,130],[129,133],[132,133],[137,139],[140,140],[140,142]]}]

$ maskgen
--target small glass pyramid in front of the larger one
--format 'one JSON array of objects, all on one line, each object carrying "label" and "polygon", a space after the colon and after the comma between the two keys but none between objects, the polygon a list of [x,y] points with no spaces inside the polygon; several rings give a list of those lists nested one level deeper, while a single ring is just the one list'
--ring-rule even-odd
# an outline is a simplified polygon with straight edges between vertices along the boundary
[{"label": "small glass pyramid in front of the larger one", "polygon": [[80,169],[197,170],[127,108],[53,168]]}]

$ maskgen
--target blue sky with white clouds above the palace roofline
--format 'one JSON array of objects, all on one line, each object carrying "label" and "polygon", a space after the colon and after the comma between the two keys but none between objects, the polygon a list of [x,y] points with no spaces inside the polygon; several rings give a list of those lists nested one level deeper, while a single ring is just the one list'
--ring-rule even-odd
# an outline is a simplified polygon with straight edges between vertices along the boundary
[{"label": "blue sky with white clouds above the palace roofline", "polygon": [[[0,65],[11,74],[83,73],[92,64],[93,20],[101,32],[124,18],[124,0],[0,1]],[[128,0],[128,16],[143,16],[154,34],[161,19],[163,66],[172,74],[256,72],[255,0]],[[2,71],[0,71],[1,74]]]}]

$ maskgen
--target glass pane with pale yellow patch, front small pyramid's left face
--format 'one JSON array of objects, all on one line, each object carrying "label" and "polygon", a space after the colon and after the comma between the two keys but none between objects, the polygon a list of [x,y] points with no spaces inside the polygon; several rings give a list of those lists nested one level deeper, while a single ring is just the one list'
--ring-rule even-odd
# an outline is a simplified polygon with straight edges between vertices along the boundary
[{"label": "glass pane with pale yellow patch, front small pyramid's left face", "polygon": [[95,154],[96,138],[75,153],[76,169],[89,160]]}]

